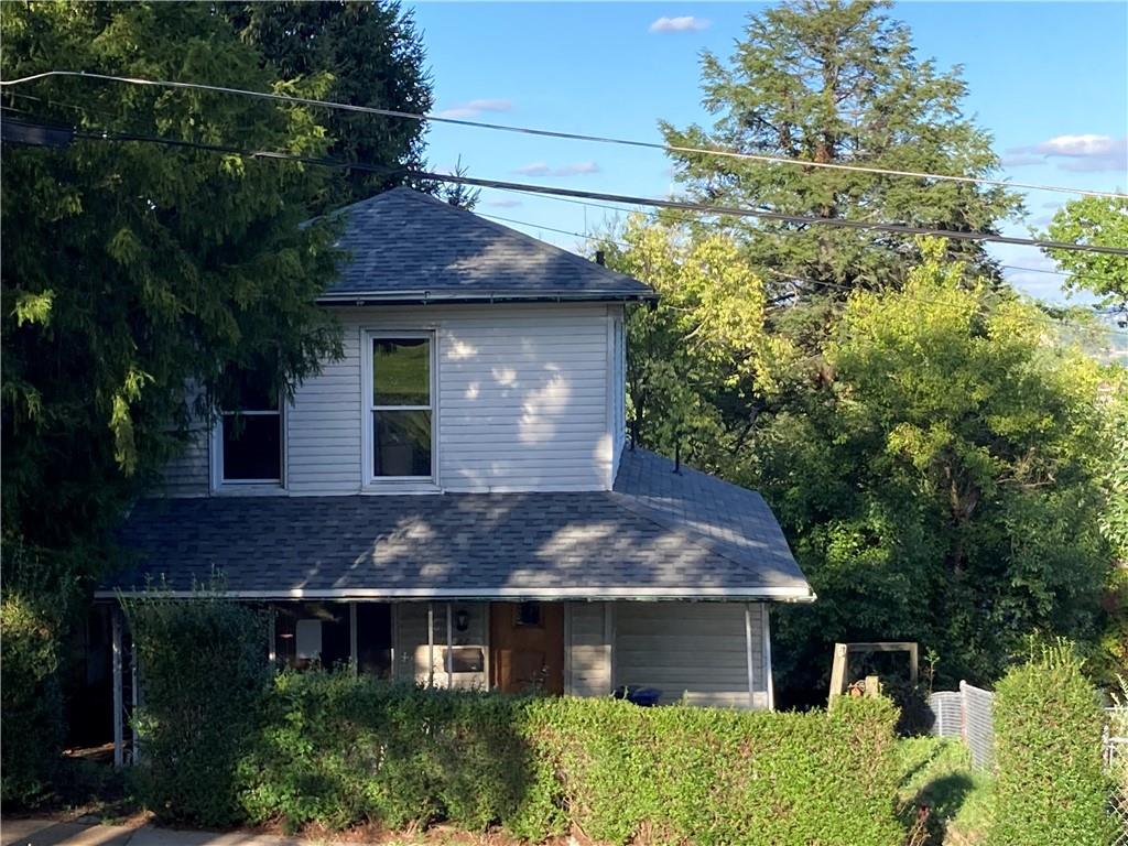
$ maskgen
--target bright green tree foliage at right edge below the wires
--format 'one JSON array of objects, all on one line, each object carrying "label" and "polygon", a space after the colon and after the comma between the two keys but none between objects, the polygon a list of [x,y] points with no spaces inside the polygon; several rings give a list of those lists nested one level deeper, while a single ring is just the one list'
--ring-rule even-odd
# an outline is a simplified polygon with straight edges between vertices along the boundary
[{"label": "bright green tree foliage at right edge below the wires", "polygon": [[[1128,247],[1128,200],[1083,197],[1054,215],[1046,237],[1070,244]],[[1068,249],[1046,250],[1066,272],[1070,290],[1086,290],[1102,303],[1128,311],[1128,257]]]}]

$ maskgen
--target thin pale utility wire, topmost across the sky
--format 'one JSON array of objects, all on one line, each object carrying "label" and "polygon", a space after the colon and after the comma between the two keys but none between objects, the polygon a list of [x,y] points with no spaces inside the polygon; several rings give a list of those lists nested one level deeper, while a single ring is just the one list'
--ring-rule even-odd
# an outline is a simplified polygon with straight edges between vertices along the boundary
[{"label": "thin pale utility wire, topmost across the sky", "polygon": [[217,91],[220,94],[237,94],[246,97],[258,97],[261,99],[275,100],[280,103],[293,103],[305,106],[321,106],[325,108],[336,108],[346,112],[361,112],[364,114],[379,115],[382,117],[398,117],[407,121],[431,121],[432,123],[446,123],[456,126],[472,126],[474,129],[492,130],[495,132],[513,132],[522,135],[537,135],[539,138],[556,138],[566,141],[587,141],[599,144],[618,144],[622,147],[635,147],[649,150],[660,150],[662,152],[680,152],[696,156],[717,156],[722,158],[741,159],[747,161],[763,161],[770,165],[792,165],[799,167],[823,168],[828,170],[848,170],[852,173],[878,174],[882,176],[905,176],[914,179],[935,179],[937,182],[970,183],[975,185],[993,185],[1006,188],[1024,188],[1028,191],[1048,191],[1060,194],[1081,194],[1083,196],[1101,197],[1125,197],[1128,194],[1119,194],[1110,191],[1089,191],[1085,188],[1067,188],[1063,185],[1041,185],[1037,183],[1011,182],[1008,179],[988,179],[979,176],[954,176],[951,174],[932,174],[918,170],[896,170],[892,168],[869,167],[865,165],[844,165],[832,161],[805,161],[803,159],[792,159],[782,156],[766,156],[761,153],[738,152],[735,150],[717,150],[702,147],[684,147],[680,144],[666,144],[655,141],[638,141],[636,139],[610,138],[607,135],[589,135],[579,132],[561,132],[557,130],[538,130],[530,126],[514,126],[503,123],[488,123],[485,121],[467,121],[459,117],[442,117],[433,114],[422,114],[415,112],[400,112],[390,108],[377,108],[374,106],[358,106],[351,103],[334,103],[332,100],[320,100],[314,97],[297,97],[285,94],[273,94],[267,91],[252,91],[245,88],[230,88],[227,86],[212,86],[202,82],[176,82],[170,80],[139,79],[135,77],[117,77],[108,73],[89,73],[87,71],[52,70],[43,73],[34,73],[19,79],[0,80],[0,87],[9,87],[32,82],[50,77],[85,77],[109,82],[125,82],[139,86],[156,86],[162,88],[186,88],[203,91]]}]

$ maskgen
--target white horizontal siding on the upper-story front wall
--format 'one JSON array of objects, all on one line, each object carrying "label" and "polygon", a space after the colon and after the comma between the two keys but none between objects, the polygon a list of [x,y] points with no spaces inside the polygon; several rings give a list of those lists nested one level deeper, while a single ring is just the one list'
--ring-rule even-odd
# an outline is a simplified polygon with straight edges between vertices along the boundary
[{"label": "white horizontal siding on the upper-story front wall", "polygon": [[[609,379],[617,359],[611,321],[622,311],[602,303],[335,310],[344,358],[325,362],[285,408],[285,485],[277,492],[403,490],[365,484],[361,350],[369,332],[434,333],[437,484],[430,491],[610,488],[618,414],[613,381],[620,385],[618,377]],[[206,444],[169,470],[170,492],[202,491]]]}]

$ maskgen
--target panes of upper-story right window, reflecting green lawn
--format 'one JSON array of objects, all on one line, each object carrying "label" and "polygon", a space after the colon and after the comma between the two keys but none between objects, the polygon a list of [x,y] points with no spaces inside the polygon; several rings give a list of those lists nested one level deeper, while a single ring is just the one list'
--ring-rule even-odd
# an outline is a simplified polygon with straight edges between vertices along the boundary
[{"label": "panes of upper-story right window, reflecting green lawn", "polygon": [[370,335],[368,442],[373,482],[434,478],[433,337]]}]

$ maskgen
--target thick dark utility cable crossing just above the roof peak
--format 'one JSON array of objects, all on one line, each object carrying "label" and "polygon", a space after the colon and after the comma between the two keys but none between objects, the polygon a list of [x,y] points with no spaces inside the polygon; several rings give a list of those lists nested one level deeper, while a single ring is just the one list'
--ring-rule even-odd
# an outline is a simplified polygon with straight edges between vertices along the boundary
[{"label": "thick dark utility cable crossing just above the roof peak", "polygon": [[[157,138],[152,135],[135,135],[129,133],[97,132],[89,130],[76,130],[76,138],[99,141],[142,141],[149,143],[162,143],[174,147],[190,147],[212,152],[226,152],[230,155],[247,156],[250,158],[280,159],[285,161],[299,161],[308,165],[321,165],[327,167],[364,170],[370,173],[394,173],[393,168],[365,165],[363,162],[349,162],[338,159],[316,158],[309,156],[298,156],[294,153],[250,151],[235,147],[220,144],[206,144],[195,141],[183,141],[179,139]],[[735,206],[706,205],[681,200],[661,200],[651,197],[627,196],[623,194],[607,194],[598,191],[579,191],[575,188],[557,188],[548,185],[530,185],[527,183],[504,182],[501,179],[483,179],[473,176],[461,176],[458,174],[433,174],[426,170],[414,170],[408,168],[398,169],[399,173],[417,179],[432,182],[453,183],[456,185],[470,185],[483,188],[503,188],[519,191],[529,194],[543,194],[546,196],[575,196],[588,200],[602,200],[613,203],[627,203],[631,205],[651,205],[660,209],[677,209],[682,211],[707,212],[733,218],[760,218],[764,220],[775,220],[787,223],[804,223],[810,226],[840,227],[846,229],[861,229],[865,231],[889,232],[892,235],[922,235],[953,240],[989,241],[994,244],[1015,244],[1028,247],[1040,247],[1043,249],[1063,249],[1074,253],[1102,253],[1108,255],[1128,256],[1128,247],[1109,247],[1093,244],[1070,244],[1068,241],[1047,241],[1037,238],[1017,238],[1005,235],[994,235],[989,232],[960,232],[951,229],[931,229],[927,227],[913,227],[901,223],[870,223],[861,220],[849,220],[846,218],[816,218],[802,214],[785,214],[783,212],[767,211],[761,209],[739,209]]]}]

